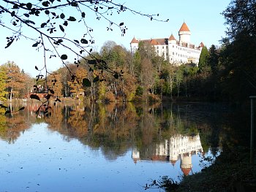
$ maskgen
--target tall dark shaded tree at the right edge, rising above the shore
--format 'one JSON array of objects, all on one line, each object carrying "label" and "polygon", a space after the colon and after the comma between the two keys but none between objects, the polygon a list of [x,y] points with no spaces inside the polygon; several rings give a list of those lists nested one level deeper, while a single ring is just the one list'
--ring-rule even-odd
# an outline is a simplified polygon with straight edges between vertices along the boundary
[{"label": "tall dark shaded tree at the right edge, rising above the shore", "polygon": [[221,53],[222,91],[234,101],[256,95],[255,7],[256,1],[232,0],[222,13],[229,25]]}]

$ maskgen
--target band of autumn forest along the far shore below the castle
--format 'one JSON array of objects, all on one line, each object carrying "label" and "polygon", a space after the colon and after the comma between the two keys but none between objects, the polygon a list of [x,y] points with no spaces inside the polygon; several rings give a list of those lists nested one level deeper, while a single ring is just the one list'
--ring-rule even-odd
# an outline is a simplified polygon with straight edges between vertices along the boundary
[{"label": "band of autumn forest along the far shore below the castle", "polygon": [[[246,47],[250,45],[250,49]],[[198,66],[170,64],[159,57],[154,46],[140,43],[135,54],[116,42],[107,41],[99,53],[116,77],[101,73],[81,59],[67,63],[48,76],[30,77],[8,61],[1,65],[0,100],[27,99],[31,93],[46,93],[58,98],[84,101],[234,101],[241,103],[255,95],[255,38],[245,34],[222,45],[203,47]],[[87,58],[90,58],[88,55]],[[83,80],[90,80],[85,85]]]}]

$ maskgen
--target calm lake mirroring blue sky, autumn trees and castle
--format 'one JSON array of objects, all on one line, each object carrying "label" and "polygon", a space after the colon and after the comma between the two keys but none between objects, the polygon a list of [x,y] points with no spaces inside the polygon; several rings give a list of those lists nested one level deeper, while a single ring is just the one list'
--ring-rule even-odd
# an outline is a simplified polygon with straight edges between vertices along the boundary
[{"label": "calm lake mirroring blue sky, autumn trees and castle", "polygon": [[29,102],[12,110],[22,106],[0,115],[0,191],[145,191],[165,175],[179,181],[221,153],[230,112],[202,103],[57,104],[50,117]]}]

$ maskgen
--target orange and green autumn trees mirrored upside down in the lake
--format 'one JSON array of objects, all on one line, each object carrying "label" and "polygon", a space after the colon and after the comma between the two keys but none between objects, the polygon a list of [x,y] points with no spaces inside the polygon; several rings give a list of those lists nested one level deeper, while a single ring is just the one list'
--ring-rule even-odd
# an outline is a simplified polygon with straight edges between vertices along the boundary
[{"label": "orange and green autumn trees mirrored upside down in the lake", "polygon": [[[83,104],[77,101],[58,103],[51,117],[40,119],[36,118],[34,109],[37,103],[29,102],[22,112],[1,115],[1,139],[14,142],[31,123],[45,122],[50,130],[58,131],[67,140],[75,138],[93,149],[100,148],[109,160],[131,148],[132,153],[135,150],[140,153],[138,159],[152,160],[156,158],[157,146],[177,135],[200,136],[201,151],[211,149],[216,154],[225,130],[232,126],[225,125],[222,112],[207,104]],[[165,160],[167,158],[170,155],[166,155]]]}]

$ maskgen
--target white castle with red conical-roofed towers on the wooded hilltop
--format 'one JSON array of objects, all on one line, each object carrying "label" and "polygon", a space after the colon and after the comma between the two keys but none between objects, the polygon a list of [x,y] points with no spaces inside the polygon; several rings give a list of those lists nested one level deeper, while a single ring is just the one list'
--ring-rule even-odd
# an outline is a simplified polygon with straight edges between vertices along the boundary
[{"label": "white castle with red conical-roofed towers on the wooded hilltop", "polygon": [[187,24],[184,22],[178,31],[178,41],[173,34],[169,38],[162,39],[132,39],[130,43],[131,52],[135,53],[138,50],[139,42],[146,42],[154,46],[157,55],[163,56],[170,64],[188,64],[193,63],[198,65],[203,42],[199,46],[190,43],[191,32]]}]

